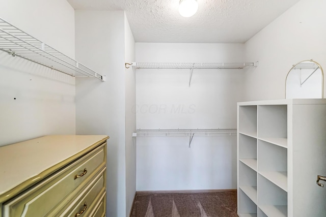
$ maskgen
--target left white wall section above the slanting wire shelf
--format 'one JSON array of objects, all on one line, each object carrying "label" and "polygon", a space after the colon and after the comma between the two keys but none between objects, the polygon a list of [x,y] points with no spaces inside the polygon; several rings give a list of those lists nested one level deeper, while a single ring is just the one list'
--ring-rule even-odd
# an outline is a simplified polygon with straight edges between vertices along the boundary
[{"label": "left white wall section above the slanting wire shelf", "polygon": [[0,0],[0,17],[74,58],[74,10],[66,0]]}]

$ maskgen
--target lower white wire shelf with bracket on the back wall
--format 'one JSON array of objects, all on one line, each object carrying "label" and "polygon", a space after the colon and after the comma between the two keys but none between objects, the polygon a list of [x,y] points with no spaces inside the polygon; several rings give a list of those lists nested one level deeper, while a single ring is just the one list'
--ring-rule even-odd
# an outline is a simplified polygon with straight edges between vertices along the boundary
[{"label": "lower white wire shelf with bracket on the back wall", "polygon": [[236,132],[236,129],[138,129],[132,136],[189,136],[191,147],[194,136],[236,136]]}]

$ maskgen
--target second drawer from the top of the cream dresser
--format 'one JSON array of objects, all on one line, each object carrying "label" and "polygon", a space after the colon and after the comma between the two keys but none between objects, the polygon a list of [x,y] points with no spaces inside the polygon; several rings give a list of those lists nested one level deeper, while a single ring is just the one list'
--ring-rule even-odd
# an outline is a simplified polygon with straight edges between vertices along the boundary
[{"label": "second drawer from the top of the cream dresser", "polygon": [[102,171],[94,180],[85,187],[76,199],[61,214],[51,213],[51,216],[80,216],[91,217],[97,211],[99,202],[105,196],[105,170]]}]

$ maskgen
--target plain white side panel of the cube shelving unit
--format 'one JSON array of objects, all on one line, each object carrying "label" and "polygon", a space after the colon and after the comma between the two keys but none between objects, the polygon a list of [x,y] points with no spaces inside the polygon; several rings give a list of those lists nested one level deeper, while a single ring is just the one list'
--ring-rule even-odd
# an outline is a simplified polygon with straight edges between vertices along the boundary
[{"label": "plain white side panel of the cube shelving unit", "polygon": [[[326,105],[293,105],[293,216],[324,216],[326,189]],[[309,209],[307,209],[309,207]]]}]

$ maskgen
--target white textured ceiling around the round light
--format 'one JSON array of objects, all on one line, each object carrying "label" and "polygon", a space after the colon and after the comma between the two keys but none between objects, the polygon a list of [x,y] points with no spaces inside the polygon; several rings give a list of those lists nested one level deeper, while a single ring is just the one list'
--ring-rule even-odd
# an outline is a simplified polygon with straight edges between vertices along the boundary
[{"label": "white textured ceiling around the round light", "polygon": [[179,0],[67,0],[75,10],[124,10],[136,42],[244,43],[299,0],[198,0],[179,15]]}]

